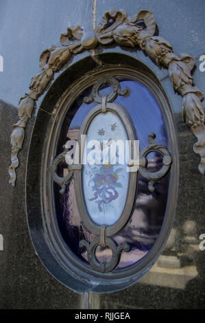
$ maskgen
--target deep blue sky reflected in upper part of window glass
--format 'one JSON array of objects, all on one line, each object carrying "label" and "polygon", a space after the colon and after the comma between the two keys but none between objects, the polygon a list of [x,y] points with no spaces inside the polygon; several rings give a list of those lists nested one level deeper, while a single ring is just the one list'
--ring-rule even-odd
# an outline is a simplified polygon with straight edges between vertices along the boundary
[{"label": "deep blue sky reflected in upper part of window glass", "polygon": [[[126,98],[118,96],[114,102],[123,105],[132,118],[132,123],[136,129],[136,135],[140,142],[140,147],[143,148],[148,144],[149,133],[156,134],[156,142],[167,146],[167,133],[165,130],[165,124],[162,118],[162,112],[158,107],[158,102],[154,98],[147,87],[140,82],[133,80],[123,80],[120,82],[121,89],[128,87],[130,89],[130,95]],[[111,90],[111,87],[110,87]],[[99,95],[108,94],[108,88],[101,89]],[[70,128],[81,126],[88,111],[95,106],[95,102],[92,104],[83,103],[80,109],[75,113]]]}]

